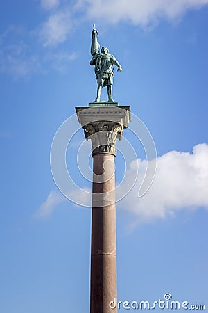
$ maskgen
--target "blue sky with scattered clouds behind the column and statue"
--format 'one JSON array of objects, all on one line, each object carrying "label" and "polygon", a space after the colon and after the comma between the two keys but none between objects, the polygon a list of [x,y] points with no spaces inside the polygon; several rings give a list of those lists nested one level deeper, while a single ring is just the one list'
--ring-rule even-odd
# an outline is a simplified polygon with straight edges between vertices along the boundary
[{"label": "blue sky with scattered clouds behind the column and statue", "polygon": [[[114,100],[131,106],[157,148],[149,191],[137,198],[138,179],[117,203],[118,298],[153,301],[169,292],[173,300],[208,306],[207,5],[1,1],[1,312],[89,310],[91,212],[58,191],[50,149],[75,106],[95,99],[89,65],[94,22],[98,41],[123,66],[114,76]],[[124,137],[142,177],[144,149],[130,129]],[[67,150],[67,165],[76,184],[89,190],[76,166],[80,144],[80,163],[92,165],[90,143],[83,141],[80,130]],[[118,146],[123,157],[116,157],[116,182],[125,159],[130,182],[135,157],[124,139]]]}]

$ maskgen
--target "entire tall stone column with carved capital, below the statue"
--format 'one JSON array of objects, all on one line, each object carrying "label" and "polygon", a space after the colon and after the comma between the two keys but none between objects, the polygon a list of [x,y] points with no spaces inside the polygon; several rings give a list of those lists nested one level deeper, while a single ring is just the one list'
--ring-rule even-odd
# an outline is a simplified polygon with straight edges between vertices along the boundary
[{"label": "entire tall stone column with carved capital, below the statue", "polygon": [[90,313],[110,308],[116,295],[116,206],[114,157],[116,139],[130,122],[129,106],[76,108],[85,138],[92,141],[92,243]]}]

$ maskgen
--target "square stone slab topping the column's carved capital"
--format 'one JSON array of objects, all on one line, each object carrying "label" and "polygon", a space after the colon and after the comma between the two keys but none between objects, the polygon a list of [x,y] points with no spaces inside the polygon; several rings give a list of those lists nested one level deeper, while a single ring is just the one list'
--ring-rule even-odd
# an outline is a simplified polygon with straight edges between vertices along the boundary
[{"label": "square stone slab topping the column's carved capital", "polygon": [[127,128],[130,123],[130,106],[83,106],[76,107],[76,113],[82,127],[92,122],[108,121]]}]

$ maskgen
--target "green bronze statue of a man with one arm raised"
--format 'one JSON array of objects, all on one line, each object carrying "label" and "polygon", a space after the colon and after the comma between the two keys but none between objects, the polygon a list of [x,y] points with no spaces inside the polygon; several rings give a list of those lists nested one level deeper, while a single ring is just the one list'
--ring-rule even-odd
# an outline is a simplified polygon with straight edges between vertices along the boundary
[{"label": "green bronze statue of a man with one arm raised", "polygon": [[118,67],[118,71],[122,72],[122,67],[116,58],[109,54],[107,47],[102,47],[101,53],[99,52],[100,45],[98,44],[96,35],[98,31],[96,31],[95,25],[92,31],[92,46],[91,46],[91,54],[92,60],[90,61],[90,65],[94,65],[94,72],[96,74],[96,79],[98,83],[97,88],[97,96],[94,102],[100,102],[101,90],[103,87],[107,86],[107,102],[114,102],[112,99],[112,84],[113,84],[113,75],[114,70],[112,68],[113,65]]}]

